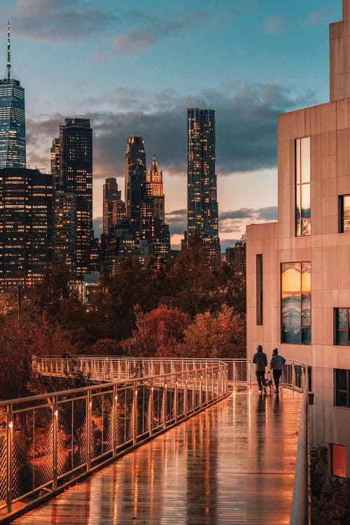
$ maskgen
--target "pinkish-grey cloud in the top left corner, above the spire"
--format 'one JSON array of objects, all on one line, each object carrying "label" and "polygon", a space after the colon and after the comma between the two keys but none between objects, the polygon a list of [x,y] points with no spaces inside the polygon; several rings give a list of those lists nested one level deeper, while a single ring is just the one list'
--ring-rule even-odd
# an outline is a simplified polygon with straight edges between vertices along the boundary
[{"label": "pinkish-grey cloud in the top left corner, above the spire", "polygon": [[[116,10],[91,0],[17,0],[5,6],[16,34],[31,41],[91,38],[117,19]],[[6,18],[7,20],[7,18]]]}]

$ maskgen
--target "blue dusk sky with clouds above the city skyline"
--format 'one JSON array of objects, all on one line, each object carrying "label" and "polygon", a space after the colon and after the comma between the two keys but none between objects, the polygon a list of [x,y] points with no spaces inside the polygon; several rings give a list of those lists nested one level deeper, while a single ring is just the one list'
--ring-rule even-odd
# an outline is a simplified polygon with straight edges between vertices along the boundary
[{"label": "blue dusk sky with clouds above the city skyline", "polygon": [[[94,229],[102,185],[124,195],[127,136],[163,171],[172,247],[186,229],[187,108],[216,110],[221,246],[276,219],[276,116],[328,102],[341,0],[1,0],[0,64],[25,87],[27,163],[50,169],[64,117],[90,118]],[[2,51],[1,51],[2,50]],[[1,58],[2,57],[2,58]]]}]

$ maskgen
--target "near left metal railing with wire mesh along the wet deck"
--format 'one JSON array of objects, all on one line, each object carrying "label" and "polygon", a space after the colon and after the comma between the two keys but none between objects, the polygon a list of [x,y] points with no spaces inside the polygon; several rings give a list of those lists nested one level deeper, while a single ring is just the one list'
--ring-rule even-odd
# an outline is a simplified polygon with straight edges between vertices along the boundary
[{"label": "near left metal railing with wire mesh along the wet deck", "polygon": [[[35,362],[36,370],[48,365],[47,361]],[[55,362],[61,366],[59,360]],[[63,363],[63,367],[65,364],[67,368],[70,365]],[[155,363],[153,370],[158,365]],[[168,367],[172,369],[169,362]],[[22,508],[20,514],[25,513],[26,505],[38,503],[48,493],[54,495],[72,480],[101,468],[227,395],[225,363],[183,363],[182,367],[165,374],[143,374],[0,402],[0,521],[8,520],[9,515],[13,519],[18,506]]]}]

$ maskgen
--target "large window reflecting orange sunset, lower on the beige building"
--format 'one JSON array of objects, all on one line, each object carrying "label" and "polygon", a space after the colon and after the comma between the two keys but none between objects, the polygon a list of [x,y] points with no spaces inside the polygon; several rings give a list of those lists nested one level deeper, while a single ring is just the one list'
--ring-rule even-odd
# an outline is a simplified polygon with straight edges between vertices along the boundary
[{"label": "large window reflecting orange sunset, lower on the beige building", "polygon": [[311,262],[281,265],[281,342],[311,344]]}]

